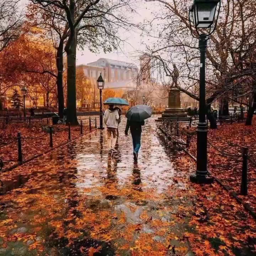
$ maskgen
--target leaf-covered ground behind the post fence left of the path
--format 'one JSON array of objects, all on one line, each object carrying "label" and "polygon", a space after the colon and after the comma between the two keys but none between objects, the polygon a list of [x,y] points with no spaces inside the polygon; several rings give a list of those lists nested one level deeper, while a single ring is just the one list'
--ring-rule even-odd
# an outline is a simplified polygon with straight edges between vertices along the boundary
[{"label": "leaf-covered ground behind the post fence left of the path", "polygon": [[[88,120],[84,120],[84,132],[89,129]],[[17,133],[21,133],[23,160],[29,159],[34,155],[43,153],[50,149],[50,135],[42,130],[42,126],[47,126],[47,121],[43,123],[34,122],[12,123],[0,129],[0,159],[4,161],[8,168],[18,163]],[[2,127],[2,126],[1,126]],[[71,127],[71,137],[80,135],[80,127]],[[53,133],[53,146],[57,146],[68,141],[68,128],[65,125],[55,125]]]}]

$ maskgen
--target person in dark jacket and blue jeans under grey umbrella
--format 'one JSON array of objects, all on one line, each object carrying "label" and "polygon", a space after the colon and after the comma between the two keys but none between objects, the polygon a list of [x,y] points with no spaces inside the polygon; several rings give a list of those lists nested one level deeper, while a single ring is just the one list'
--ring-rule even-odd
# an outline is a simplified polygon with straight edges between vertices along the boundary
[{"label": "person in dark jacket and blue jeans under grey umbrella", "polygon": [[128,130],[130,128],[130,132],[132,134],[132,139],[133,139],[133,159],[135,162],[138,161],[138,153],[139,153],[139,149],[140,149],[142,126],[144,124],[145,124],[144,121],[134,122],[134,121],[129,121],[127,119],[126,129],[124,131],[125,135],[128,136]]}]

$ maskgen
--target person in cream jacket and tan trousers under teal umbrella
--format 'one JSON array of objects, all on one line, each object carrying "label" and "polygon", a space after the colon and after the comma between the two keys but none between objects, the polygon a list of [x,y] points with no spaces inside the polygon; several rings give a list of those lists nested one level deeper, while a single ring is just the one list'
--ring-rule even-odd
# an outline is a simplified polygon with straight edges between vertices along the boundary
[{"label": "person in cream jacket and tan trousers under teal umbrella", "polygon": [[[118,111],[114,109],[113,105],[110,105],[104,113],[104,122],[107,126],[107,145],[109,153],[111,153],[111,151],[116,151],[118,119]],[[111,138],[111,134],[113,134],[113,138]]]}]

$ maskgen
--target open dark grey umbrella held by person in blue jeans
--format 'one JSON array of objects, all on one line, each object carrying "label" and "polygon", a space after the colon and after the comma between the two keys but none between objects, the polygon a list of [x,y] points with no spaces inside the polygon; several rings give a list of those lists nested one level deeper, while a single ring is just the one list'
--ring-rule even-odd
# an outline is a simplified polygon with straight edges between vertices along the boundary
[{"label": "open dark grey umbrella held by person in blue jeans", "polygon": [[151,117],[152,112],[152,108],[147,105],[136,105],[127,111],[126,117],[129,121],[142,122]]}]

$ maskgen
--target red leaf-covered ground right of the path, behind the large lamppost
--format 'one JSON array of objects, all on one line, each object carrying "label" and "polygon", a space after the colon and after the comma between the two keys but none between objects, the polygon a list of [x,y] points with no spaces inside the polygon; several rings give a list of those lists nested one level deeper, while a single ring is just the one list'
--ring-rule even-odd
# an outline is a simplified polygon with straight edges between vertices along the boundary
[{"label": "red leaf-covered ground right of the path, behind the large lamppost", "polygon": [[[244,123],[223,124],[208,132],[208,168],[225,185],[240,193],[242,147],[248,148],[248,196],[240,196],[256,212],[256,118],[252,126]],[[196,135],[189,152],[196,156]]]}]

